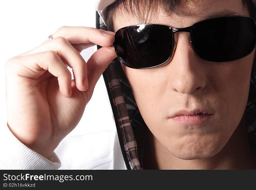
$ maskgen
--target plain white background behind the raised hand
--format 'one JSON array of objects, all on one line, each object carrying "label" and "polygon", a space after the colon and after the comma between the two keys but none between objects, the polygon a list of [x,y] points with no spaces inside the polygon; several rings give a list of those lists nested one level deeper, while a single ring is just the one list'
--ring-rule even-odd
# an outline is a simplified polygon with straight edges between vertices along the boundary
[{"label": "plain white background behind the raised hand", "polygon": [[[1,127],[5,127],[7,118],[4,65],[6,61],[40,45],[50,34],[63,25],[95,28],[95,9],[93,2],[88,0],[1,0],[0,18],[0,124]],[[96,45],[81,52],[85,61],[93,54],[95,48]],[[97,83],[93,97],[86,106],[83,120],[86,118],[88,118],[88,122],[97,120],[97,116],[100,114],[99,109],[102,107],[100,105],[103,104],[101,102],[103,101],[102,96],[106,98],[104,94],[102,95],[98,91],[102,92],[102,86]],[[106,110],[105,116],[112,119],[110,111]],[[102,121],[104,121],[104,118],[102,118]],[[76,134],[76,130],[72,131],[72,133]],[[77,131],[77,133],[79,132]]]}]

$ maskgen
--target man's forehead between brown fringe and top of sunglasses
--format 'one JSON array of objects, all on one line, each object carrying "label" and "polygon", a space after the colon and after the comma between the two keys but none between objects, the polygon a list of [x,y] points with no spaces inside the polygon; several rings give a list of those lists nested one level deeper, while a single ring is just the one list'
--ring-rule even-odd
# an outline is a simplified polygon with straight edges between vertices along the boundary
[{"label": "man's forehead between brown fringe and top of sunglasses", "polygon": [[[173,12],[166,13],[160,7],[154,8],[154,17],[153,14],[149,14],[148,21],[143,24],[163,24],[172,28],[184,28],[207,18],[230,15],[249,16],[242,0],[191,0],[185,8],[188,13],[187,16],[178,16]],[[122,12],[118,10],[113,17],[115,32],[125,26],[142,24],[136,16],[124,11],[124,9],[121,10]]]}]

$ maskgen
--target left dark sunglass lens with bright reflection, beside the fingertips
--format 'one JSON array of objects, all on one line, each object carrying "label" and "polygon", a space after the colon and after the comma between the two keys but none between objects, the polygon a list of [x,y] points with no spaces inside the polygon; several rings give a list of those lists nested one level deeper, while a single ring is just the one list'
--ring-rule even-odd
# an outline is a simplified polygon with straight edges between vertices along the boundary
[{"label": "left dark sunglass lens with bright reflection, beside the fingertips", "polygon": [[168,61],[173,33],[164,25],[134,25],[115,33],[115,50],[128,67],[149,68]]}]

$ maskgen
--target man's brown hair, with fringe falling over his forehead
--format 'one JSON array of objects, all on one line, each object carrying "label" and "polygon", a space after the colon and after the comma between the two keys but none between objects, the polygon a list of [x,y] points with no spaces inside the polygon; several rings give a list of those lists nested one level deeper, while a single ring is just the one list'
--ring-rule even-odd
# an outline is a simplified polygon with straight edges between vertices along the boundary
[{"label": "man's brown hair, with fringe falling over his forehead", "polygon": [[[118,0],[106,8],[106,26],[110,31],[113,28],[113,16],[116,10],[125,10],[136,17],[140,23],[146,23],[151,15],[153,19],[156,15],[157,8],[161,8],[166,14],[175,13],[178,16],[195,16],[187,10],[187,4],[191,1],[195,6],[200,5],[200,0]],[[248,8],[250,16],[256,19],[256,8],[251,0],[242,0],[244,8]],[[121,11],[122,12],[122,11]]]}]

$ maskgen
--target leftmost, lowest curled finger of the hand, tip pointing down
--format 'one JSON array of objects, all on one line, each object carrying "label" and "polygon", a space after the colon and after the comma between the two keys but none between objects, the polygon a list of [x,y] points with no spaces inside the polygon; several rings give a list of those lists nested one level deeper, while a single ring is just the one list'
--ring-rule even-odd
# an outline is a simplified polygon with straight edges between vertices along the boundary
[{"label": "leftmost, lowest curled finger of the hand, tip pointing down", "polygon": [[61,93],[66,97],[71,96],[71,73],[56,52],[47,51],[14,57],[10,64],[15,74],[31,79],[38,79],[48,71],[58,78]]}]

